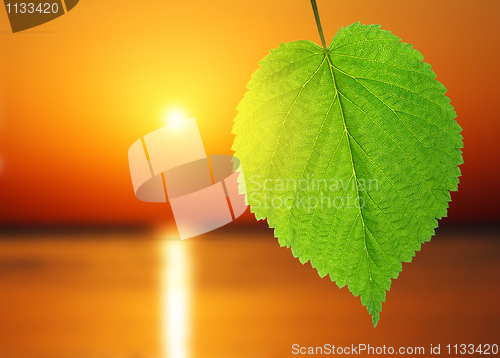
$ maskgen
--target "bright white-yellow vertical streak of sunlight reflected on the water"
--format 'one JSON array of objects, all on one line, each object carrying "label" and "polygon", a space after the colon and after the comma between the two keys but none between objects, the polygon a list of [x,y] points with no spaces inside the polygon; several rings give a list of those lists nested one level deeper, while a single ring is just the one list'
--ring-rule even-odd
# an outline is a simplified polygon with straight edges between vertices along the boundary
[{"label": "bright white-yellow vertical streak of sunlight reflected on the water", "polygon": [[165,357],[188,358],[189,257],[185,242],[162,242],[163,316],[162,341]]}]

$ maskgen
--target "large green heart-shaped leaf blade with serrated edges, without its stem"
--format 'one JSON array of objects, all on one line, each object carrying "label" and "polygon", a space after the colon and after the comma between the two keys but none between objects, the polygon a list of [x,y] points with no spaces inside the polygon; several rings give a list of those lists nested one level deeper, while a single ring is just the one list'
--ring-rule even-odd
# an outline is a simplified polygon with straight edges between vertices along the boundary
[{"label": "large green heart-shaped leaf blade with serrated edges, without its stem", "polygon": [[251,211],[361,295],[374,325],[391,278],[446,216],[463,162],[446,89],[422,60],[378,25],[342,28],[327,50],[281,44],[233,128]]}]

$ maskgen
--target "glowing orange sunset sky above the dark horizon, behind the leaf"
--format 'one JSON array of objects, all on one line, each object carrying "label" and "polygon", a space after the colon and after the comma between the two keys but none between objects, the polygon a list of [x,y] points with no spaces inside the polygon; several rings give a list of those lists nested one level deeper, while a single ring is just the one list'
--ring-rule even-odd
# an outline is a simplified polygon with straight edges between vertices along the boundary
[{"label": "glowing orange sunset sky above the dark horizon, behind the leaf", "polygon": [[[327,41],[353,22],[412,43],[464,129],[450,219],[499,217],[497,0],[318,0]],[[0,222],[170,220],[135,199],[128,147],[181,107],[209,154],[230,154],[235,107],[281,42],[319,42],[307,0],[81,0],[18,34],[0,9]]]}]

